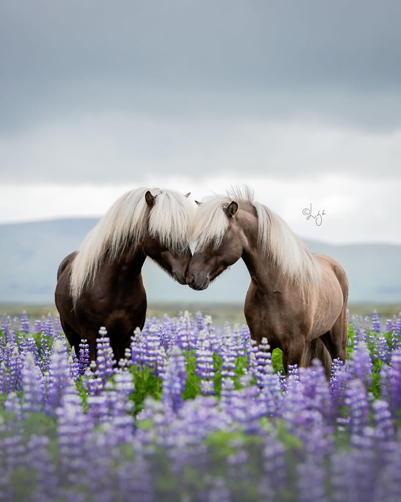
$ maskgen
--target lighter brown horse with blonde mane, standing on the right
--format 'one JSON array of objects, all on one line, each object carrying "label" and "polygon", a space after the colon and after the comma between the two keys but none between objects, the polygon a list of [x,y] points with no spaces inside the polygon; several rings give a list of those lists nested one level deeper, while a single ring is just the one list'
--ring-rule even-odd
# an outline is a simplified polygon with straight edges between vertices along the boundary
[{"label": "lighter brown horse with blonde mane, standing on the right", "polygon": [[195,218],[197,246],[186,274],[196,290],[206,289],[242,258],[251,276],[244,313],[251,336],[268,339],[283,352],[283,365],[347,358],[348,280],[333,258],[310,253],[287,223],[253,200],[245,188],[201,203]]}]

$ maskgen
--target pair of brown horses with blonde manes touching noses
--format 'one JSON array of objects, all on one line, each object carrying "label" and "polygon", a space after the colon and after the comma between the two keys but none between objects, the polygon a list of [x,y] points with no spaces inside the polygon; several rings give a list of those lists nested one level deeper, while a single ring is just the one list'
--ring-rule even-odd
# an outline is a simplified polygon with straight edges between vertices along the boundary
[{"label": "pair of brown horses with blonde manes touching noses", "polygon": [[146,188],[124,194],[63,260],[55,299],[76,353],[87,339],[95,359],[97,333],[106,326],[117,360],[124,356],[133,330],[145,322],[146,256],[198,291],[242,258],[251,278],[244,305],[251,337],[279,347],[286,371],[317,357],[329,378],[332,359],[347,358],[348,280],[341,265],[312,254],[249,188],[208,197],[196,211],[188,195]]}]

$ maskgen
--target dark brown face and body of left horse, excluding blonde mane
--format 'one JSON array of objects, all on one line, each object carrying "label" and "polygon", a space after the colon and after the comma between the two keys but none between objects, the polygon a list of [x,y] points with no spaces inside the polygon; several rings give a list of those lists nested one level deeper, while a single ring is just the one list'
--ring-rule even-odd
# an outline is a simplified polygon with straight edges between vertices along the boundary
[{"label": "dark brown face and body of left horse, excluding blonde mane", "polygon": [[124,357],[134,329],[142,329],[145,322],[147,301],[141,270],[146,257],[155,260],[180,284],[185,284],[185,272],[192,256],[189,248],[184,254],[175,253],[147,236],[140,246],[127,245],[117,260],[110,261],[106,255],[94,280],[85,285],[74,306],[70,274],[75,255],[76,252],[68,255],[57,273],[55,301],[64,333],[77,355],[81,339],[87,339],[90,359],[95,360],[96,338],[99,328],[105,326],[117,361]]}]

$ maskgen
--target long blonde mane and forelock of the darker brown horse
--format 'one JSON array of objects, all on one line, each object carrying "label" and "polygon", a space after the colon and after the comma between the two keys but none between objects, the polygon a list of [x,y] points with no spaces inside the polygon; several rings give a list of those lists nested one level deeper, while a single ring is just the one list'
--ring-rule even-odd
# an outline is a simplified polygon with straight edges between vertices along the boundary
[{"label": "long blonde mane and forelock of the darker brown horse", "polygon": [[[148,190],[156,197],[152,208],[145,200]],[[192,220],[193,204],[175,190],[141,187],[123,194],[87,234],[75,256],[70,280],[74,303],[106,255],[115,260],[128,244],[135,251],[147,233],[182,252],[190,244]]]}]

